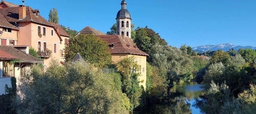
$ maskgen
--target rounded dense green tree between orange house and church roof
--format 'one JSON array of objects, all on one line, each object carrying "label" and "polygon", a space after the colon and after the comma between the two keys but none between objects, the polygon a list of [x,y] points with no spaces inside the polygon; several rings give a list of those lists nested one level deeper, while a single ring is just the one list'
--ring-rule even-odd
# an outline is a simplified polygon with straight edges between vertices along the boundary
[{"label": "rounded dense green tree between orange house and church roof", "polygon": [[80,53],[85,61],[96,67],[104,67],[112,62],[107,42],[94,35],[71,37],[64,50],[66,62],[71,61],[76,53]]}]

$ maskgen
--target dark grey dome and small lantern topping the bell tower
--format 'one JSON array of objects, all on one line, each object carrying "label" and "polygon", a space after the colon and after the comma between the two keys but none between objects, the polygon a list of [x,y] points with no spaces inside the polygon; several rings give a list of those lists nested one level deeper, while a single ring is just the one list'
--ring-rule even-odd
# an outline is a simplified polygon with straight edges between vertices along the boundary
[{"label": "dark grey dome and small lantern topping the bell tower", "polygon": [[126,1],[125,0],[122,0],[121,6],[122,6],[122,8],[117,12],[117,19],[118,18],[128,18],[128,19],[131,19],[131,14],[126,9]]}]

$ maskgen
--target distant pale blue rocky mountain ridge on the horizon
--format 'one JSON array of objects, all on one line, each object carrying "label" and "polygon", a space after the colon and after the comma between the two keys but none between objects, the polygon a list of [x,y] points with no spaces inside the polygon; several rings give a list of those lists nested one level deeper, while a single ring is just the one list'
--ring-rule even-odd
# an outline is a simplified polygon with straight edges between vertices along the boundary
[{"label": "distant pale blue rocky mountain ridge on the horizon", "polygon": [[235,46],[231,43],[226,43],[226,44],[219,44],[219,45],[204,45],[204,46],[198,46],[192,48],[193,51],[196,52],[206,52],[208,50],[210,51],[215,51],[215,50],[223,50],[223,51],[228,51],[229,49],[234,48],[234,50],[239,50],[239,49],[253,49],[256,50],[256,47],[252,46]]}]

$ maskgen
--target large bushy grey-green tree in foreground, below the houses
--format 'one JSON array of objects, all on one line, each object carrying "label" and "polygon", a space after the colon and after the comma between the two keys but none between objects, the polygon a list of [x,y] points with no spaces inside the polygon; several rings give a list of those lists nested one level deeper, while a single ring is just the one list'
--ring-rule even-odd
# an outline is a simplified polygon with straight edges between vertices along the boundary
[{"label": "large bushy grey-green tree in foreground, below the houses", "polygon": [[[88,63],[60,66],[53,60],[43,73],[33,65],[22,77],[17,111],[22,114],[128,114],[120,76],[103,74]],[[128,103],[129,105],[129,103]]]}]

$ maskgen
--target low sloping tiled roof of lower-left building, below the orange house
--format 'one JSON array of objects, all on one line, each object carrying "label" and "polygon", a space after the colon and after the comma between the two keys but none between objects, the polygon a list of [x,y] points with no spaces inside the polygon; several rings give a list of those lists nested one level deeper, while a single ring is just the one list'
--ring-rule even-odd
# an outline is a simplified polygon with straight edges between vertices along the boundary
[{"label": "low sloping tiled roof of lower-left building, below the orange house", "polygon": [[30,54],[26,54],[21,50],[15,49],[11,46],[0,46],[0,50],[3,50],[12,56],[20,59],[21,63],[42,63],[42,61],[38,60],[37,58],[33,57]]}]

